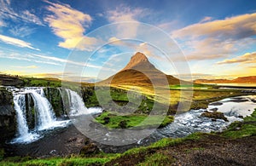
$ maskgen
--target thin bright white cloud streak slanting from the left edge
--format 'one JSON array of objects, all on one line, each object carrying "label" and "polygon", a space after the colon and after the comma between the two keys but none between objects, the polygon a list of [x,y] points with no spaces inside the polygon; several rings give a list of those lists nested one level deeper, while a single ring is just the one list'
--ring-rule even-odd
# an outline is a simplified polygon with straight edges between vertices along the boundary
[{"label": "thin bright white cloud streak slanting from the left edge", "polygon": [[[15,46],[20,47],[20,48],[35,49],[35,48],[32,47],[31,43],[27,43],[27,42],[25,42],[23,40],[20,40],[18,38],[7,37],[7,36],[0,35],[0,40],[2,40],[4,43],[9,43],[11,45],[15,45]],[[35,49],[35,50],[39,50],[39,49]]]}]

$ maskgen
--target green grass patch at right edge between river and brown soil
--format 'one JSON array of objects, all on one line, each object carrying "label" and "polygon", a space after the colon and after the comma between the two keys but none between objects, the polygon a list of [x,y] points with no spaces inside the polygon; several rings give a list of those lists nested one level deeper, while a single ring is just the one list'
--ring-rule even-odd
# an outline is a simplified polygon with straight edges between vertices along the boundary
[{"label": "green grass patch at right edge between river and brown soil", "polygon": [[233,139],[256,135],[256,109],[250,117],[245,117],[242,122],[231,123],[221,135]]}]

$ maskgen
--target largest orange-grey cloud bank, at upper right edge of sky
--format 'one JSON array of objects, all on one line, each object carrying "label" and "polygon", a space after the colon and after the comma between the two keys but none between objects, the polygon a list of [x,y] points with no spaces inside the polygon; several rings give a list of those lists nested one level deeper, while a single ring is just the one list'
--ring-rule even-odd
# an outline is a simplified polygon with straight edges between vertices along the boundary
[{"label": "largest orange-grey cloud bank, at upper right edge of sky", "polygon": [[208,20],[172,31],[188,60],[223,58],[256,44],[256,13]]}]

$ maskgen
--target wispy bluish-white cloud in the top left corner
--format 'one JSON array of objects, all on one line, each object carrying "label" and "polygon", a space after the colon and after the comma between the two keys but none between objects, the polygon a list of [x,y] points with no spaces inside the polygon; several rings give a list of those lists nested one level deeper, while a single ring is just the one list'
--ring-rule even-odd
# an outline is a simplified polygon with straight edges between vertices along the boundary
[{"label": "wispy bluish-white cloud in the top left corner", "polygon": [[28,10],[16,11],[11,8],[11,2],[9,0],[0,0],[0,20],[14,20],[23,21],[26,23],[33,23],[39,26],[44,26],[43,22],[32,12]]}]

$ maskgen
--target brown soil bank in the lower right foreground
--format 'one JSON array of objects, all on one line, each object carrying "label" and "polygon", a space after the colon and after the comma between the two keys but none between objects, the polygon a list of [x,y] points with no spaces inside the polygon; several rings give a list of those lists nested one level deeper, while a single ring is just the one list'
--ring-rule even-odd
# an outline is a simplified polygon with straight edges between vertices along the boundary
[{"label": "brown soil bank in the lower right foreground", "polygon": [[162,165],[253,165],[256,161],[256,136],[230,140],[206,135],[201,140],[187,140],[175,146],[119,157],[107,165],[137,165],[154,153],[161,153],[172,160],[172,163]]}]

